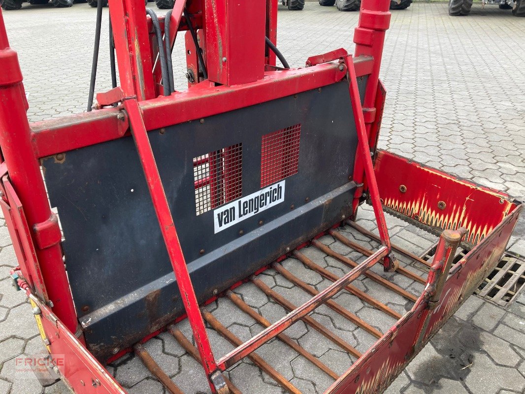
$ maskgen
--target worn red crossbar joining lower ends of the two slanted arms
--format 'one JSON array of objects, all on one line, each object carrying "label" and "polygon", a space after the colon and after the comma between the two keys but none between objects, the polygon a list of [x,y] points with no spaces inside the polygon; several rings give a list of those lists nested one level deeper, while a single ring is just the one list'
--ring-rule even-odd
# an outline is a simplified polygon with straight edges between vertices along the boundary
[{"label": "worn red crossbar joining lower ends of the two slanted arms", "polygon": [[303,316],[308,315],[310,312],[312,312],[312,310],[323,304],[327,299],[332,298],[335,294],[339,293],[346,285],[358,278],[377,261],[384,258],[387,253],[388,248],[386,246],[379,248],[377,252],[359,264],[358,267],[355,267],[349,273],[338,278],[337,281],[325,288],[318,295],[312,297],[301,306],[291,310],[288,315],[283,316],[277,322],[265,328],[250,340],[246,341],[243,345],[230,351],[226,356],[222,357],[218,361],[220,368],[223,370],[226,369],[226,362],[228,362],[229,365],[235,364],[235,362],[246,357],[255,349],[267,343],[271,338],[275,338],[279,333],[282,333],[282,331],[286,330]]}]

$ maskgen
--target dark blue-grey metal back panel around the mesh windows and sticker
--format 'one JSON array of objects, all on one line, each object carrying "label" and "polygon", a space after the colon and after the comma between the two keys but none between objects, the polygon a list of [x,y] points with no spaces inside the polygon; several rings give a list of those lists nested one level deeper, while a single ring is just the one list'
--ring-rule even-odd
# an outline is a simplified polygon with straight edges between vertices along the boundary
[{"label": "dark blue-grey metal back panel around the mesh windows and sticker", "polygon": [[[242,194],[249,195],[260,190],[261,136],[297,123],[299,170],[286,178],[284,201],[215,234],[213,210],[196,215],[193,158],[242,143]],[[345,81],[149,137],[199,302],[351,212],[357,138]],[[132,138],[43,165],[93,353],[104,359],[183,313]]]}]

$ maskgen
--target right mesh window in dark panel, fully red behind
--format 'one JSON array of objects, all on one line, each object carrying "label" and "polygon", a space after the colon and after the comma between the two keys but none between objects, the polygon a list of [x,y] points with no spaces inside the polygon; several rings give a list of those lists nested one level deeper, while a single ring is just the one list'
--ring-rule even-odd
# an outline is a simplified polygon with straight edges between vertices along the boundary
[{"label": "right mesh window in dark panel, fully red behind", "polygon": [[301,123],[262,136],[261,188],[296,174]]}]

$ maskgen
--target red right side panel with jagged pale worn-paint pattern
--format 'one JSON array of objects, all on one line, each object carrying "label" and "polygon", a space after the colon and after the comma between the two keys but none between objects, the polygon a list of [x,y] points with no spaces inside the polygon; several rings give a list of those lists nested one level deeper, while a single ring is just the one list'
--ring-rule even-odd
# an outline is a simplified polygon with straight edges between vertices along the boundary
[{"label": "red right side panel with jagged pale worn-paint pattern", "polygon": [[509,195],[378,151],[375,173],[383,205],[435,229],[465,227],[476,245],[515,207]]}]

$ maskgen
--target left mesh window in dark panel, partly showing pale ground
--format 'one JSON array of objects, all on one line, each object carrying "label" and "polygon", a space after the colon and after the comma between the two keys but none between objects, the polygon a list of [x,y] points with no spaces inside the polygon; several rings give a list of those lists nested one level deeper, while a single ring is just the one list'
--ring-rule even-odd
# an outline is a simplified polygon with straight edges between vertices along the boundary
[{"label": "left mesh window in dark panel, partly showing pale ground", "polygon": [[242,145],[238,143],[193,159],[197,215],[242,195]]}]

